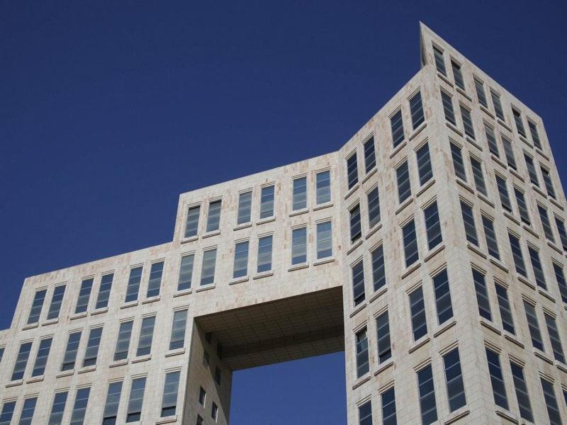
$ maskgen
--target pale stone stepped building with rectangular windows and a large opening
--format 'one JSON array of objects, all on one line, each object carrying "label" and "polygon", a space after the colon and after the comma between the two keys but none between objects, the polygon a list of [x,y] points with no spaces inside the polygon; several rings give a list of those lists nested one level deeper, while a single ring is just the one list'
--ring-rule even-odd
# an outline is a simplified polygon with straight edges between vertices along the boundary
[{"label": "pale stone stepped building with rectangular windows and a large opening", "polygon": [[349,424],[567,423],[544,125],[420,32],[420,71],[337,152],[181,194],[172,242],[27,278],[0,424],[228,424],[232,370],[342,350]]}]

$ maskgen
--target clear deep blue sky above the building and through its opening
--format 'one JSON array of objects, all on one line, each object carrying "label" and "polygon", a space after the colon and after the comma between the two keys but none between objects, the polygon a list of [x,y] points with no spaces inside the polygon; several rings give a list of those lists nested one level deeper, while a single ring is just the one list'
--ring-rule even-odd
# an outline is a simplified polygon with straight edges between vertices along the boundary
[{"label": "clear deep blue sky above the building and through its opening", "polygon": [[[340,147],[419,69],[419,20],[567,171],[566,4],[0,1],[0,328],[26,276],[170,240],[179,193]],[[318,360],[239,373],[233,424],[344,424]]]}]

